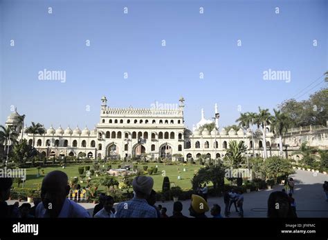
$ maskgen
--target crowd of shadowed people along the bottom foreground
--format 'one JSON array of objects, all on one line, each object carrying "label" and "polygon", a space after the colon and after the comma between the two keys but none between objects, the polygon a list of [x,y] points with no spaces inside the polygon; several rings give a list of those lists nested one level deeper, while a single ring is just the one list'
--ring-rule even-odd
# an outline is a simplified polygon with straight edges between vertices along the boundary
[{"label": "crowd of shadowed people along the bottom foreground", "polygon": [[[49,172],[42,181],[41,196],[34,199],[34,206],[30,203],[18,202],[8,205],[6,200],[10,196],[12,179],[0,178],[0,217],[21,217],[21,218],[42,218],[42,217],[91,217],[89,211],[80,204],[75,203],[66,196],[69,194],[67,174],[55,170]],[[286,187],[286,185],[288,187]],[[154,180],[152,177],[137,176],[132,182],[134,197],[129,201],[118,203],[114,208],[114,199],[106,194],[100,194],[98,203],[93,209],[94,218],[188,218],[182,214],[183,204],[180,201],[173,203],[172,215],[167,212],[167,208],[156,206],[156,192],[153,190]],[[287,179],[282,191],[271,192],[268,198],[268,217],[297,217],[296,203],[293,198],[293,179]],[[328,201],[328,183],[325,181],[322,186]],[[206,218],[206,212],[210,211],[213,218],[222,218],[221,206],[215,203],[212,208],[207,201],[208,189],[206,184],[199,188],[197,194],[192,194],[189,214],[195,218]],[[224,192],[224,216],[230,216],[230,209],[235,207],[235,211],[240,217],[244,217],[243,210],[244,195],[242,191],[232,189]],[[277,206],[278,204],[278,206]]]}]

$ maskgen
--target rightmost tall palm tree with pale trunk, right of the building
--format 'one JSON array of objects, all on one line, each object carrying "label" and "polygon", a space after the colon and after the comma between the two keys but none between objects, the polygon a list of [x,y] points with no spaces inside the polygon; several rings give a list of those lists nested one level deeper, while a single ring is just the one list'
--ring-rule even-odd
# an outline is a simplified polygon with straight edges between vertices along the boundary
[{"label": "rightmost tall palm tree with pale trunk, right of the building", "polygon": [[287,132],[291,121],[286,113],[282,113],[280,110],[275,110],[274,108],[273,112],[275,112],[275,116],[273,118],[272,127],[275,130],[275,134],[279,137],[280,157],[282,157],[282,134]]}]

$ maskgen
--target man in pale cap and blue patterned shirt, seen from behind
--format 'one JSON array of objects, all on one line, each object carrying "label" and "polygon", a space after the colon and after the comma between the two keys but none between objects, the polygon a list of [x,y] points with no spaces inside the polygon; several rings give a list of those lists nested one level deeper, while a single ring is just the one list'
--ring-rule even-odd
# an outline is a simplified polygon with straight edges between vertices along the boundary
[{"label": "man in pale cap and blue patterned shirt, seen from behind", "polygon": [[147,203],[154,180],[152,177],[137,176],[132,181],[134,198],[118,204],[117,218],[156,218],[157,211]]}]

